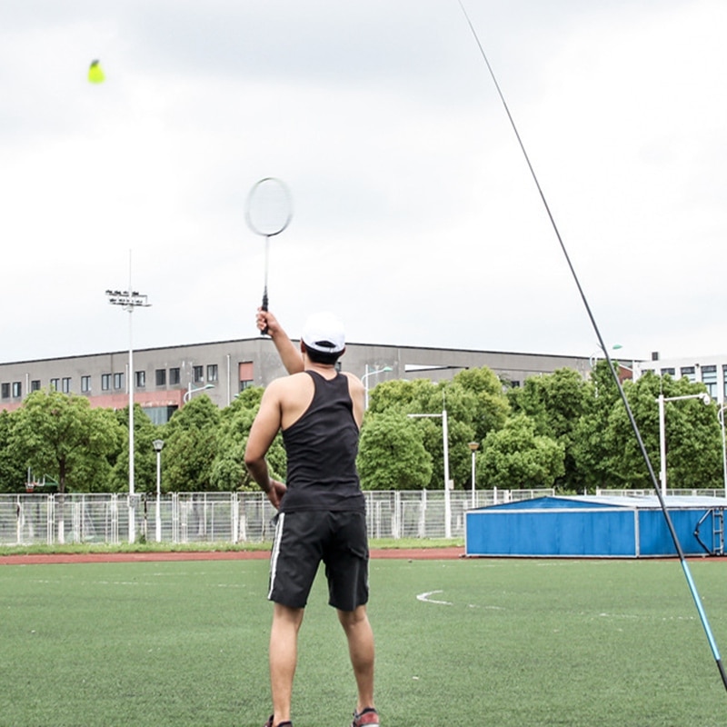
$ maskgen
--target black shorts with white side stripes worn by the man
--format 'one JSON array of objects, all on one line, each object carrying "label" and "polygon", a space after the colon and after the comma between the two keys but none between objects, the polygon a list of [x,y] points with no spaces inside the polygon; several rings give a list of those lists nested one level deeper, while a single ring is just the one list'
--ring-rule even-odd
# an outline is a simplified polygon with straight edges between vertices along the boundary
[{"label": "black shorts with white side stripes worn by the man", "polygon": [[268,599],[290,608],[304,608],[322,561],[330,605],[354,611],[368,601],[365,514],[308,510],[279,513],[270,555]]}]

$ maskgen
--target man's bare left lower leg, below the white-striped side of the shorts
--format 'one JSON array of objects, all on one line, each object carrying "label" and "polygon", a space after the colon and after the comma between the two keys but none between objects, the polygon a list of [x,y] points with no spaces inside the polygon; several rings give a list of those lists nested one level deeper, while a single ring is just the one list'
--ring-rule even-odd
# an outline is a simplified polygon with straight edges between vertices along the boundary
[{"label": "man's bare left lower leg, below the white-striped side of the shorts", "polygon": [[290,720],[293,677],[298,659],[298,631],[304,609],[275,603],[270,630],[270,687],[273,692],[273,724]]}]

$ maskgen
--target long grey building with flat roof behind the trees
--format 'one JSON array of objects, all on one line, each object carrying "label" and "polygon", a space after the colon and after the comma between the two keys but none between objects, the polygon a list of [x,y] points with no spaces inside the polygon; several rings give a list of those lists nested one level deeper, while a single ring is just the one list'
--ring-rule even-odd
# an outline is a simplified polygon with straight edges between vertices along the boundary
[{"label": "long grey building with flat roof behind the trees", "polygon": [[[93,406],[123,409],[128,364],[128,351],[0,364],[0,409],[15,409],[28,393],[46,388],[86,396]],[[387,380],[441,381],[482,366],[515,386],[560,368],[584,377],[590,370],[587,357],[375,344],[347,344],[341,364],[362,378],[367,391]],[[204,391],[223,407],[247,386],[264,386],[283,374],[275,346],[264,336],[139,349],[134,350],[134,402],[154,423],[165,423],[194,393]]]}]

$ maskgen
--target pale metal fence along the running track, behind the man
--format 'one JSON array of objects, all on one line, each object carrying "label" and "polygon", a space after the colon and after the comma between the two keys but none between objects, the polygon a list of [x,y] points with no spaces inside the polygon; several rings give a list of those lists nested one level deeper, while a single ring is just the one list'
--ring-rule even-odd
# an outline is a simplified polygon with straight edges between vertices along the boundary
[{"label": "pale metal fence along the running track, behind the man", "polygon": [[[464,536],[473,507],[552,495],[553,490],[450,493],[450,533]],[[369,537],[443,538],[443,490],[366,492]],[[274,508],[264,493],[0,494],[0,545],[97,543],[262,543],[272,540]],[[131,527],[130,527],[131,526]]]}]

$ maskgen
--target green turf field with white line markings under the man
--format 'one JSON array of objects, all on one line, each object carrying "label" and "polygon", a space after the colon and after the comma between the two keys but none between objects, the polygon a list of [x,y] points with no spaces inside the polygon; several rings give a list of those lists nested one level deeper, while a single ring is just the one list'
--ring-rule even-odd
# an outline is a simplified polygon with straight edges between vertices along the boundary
[{"label": "green turf field with white line markings under the man", "polygon": [[[727,649],[727,563],[692,563]],[[0,566],[0,725],[262,727],[265,561]],[[727,723],[679,563],[374,560],[384,727]],[[429,594],[429,595],[424,595]],[[354,683],[322,574],[295,727],[347,727]]]}]

